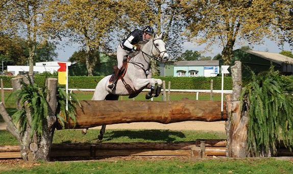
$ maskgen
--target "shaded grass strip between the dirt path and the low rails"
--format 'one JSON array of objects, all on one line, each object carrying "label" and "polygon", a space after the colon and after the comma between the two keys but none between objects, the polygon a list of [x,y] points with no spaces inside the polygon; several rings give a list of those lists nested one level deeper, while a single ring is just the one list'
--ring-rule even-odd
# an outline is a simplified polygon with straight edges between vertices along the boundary
[{"label": "shaded grass strip between the dirt path and the low rails", "polygon": [[[56,130],[53,143],[96,143],[100,129],[89,129],[86,135],[80,129]],[[197,139],[226,139],[223,132],[192,130],[124,130],[106,129],[103,142],[190,142]],[[18,145],[18,141],[6,130],[0,130],[0,146]]]}]

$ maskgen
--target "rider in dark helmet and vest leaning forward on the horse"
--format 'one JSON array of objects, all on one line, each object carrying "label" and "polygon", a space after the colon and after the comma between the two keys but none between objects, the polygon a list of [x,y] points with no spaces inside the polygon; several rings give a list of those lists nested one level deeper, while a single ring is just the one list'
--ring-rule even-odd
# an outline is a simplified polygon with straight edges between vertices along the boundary
[{"label": "rider in dark helmet and vest leaning forward on the horse", "polygon": [[123,66],[123,59],[130,51],[140,51],[139,46],[135,46],[139,41],[150,39],[154,35],[154,29],[151,26],[146,26],[142,30],[136,29],[128,34],[117,47],[117,70],[114,73],[114,81],[108,85],[111,90],[115,89],[116,82],[119,78],[119,73]]}]

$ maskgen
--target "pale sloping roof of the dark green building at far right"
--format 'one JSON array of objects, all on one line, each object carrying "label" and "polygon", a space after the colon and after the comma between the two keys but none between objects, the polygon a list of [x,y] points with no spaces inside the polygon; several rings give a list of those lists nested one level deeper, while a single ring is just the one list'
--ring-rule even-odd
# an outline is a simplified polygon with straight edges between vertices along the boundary
[{"label": "pale sloping roof of the dark green building at far right", "polygon": [[268,61],[278,63],[278,64],[283,64],[283,63],[293,64],[293,58],[284,56],[279,53],[270,53],[270,52],[253,51],[253,50],[242,50],[242,51],[261,57]]}]

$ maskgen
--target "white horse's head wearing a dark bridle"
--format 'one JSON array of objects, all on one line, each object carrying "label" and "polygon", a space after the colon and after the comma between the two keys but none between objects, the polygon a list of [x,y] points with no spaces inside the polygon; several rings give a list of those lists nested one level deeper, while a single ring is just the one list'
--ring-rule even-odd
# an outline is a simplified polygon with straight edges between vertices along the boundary
[{"label": "white horse's head wearing a dark bridle", "polygon": [[152,53],[164,63],[169,59],[169,55],[165,49],[165,42],[162,40],[162,34],[158,36],[157,33],[154,33]]}]

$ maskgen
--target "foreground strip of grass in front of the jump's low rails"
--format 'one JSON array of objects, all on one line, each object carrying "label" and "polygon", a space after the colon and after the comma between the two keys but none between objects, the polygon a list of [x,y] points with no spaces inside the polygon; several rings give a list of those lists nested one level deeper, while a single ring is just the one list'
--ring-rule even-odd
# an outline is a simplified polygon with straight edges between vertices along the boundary
[{"label": "foreground strip of grass in front of the jump's low rails", "polygon": [[2,173],[292,173],[290,161],[276,159],[44,162],[0,167]]}]

